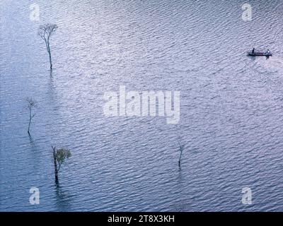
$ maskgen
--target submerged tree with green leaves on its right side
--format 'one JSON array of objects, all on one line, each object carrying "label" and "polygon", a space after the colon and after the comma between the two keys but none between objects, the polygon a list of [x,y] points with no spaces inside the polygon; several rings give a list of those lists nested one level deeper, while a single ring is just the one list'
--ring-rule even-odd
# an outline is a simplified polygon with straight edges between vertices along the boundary
[{"label": "submerged tree with green leaves on its right side", "polygon": [[61,165],[67,160],[69,157],[71,157],[71,151],[69,148],[59,148],[56,149],[56,147],[52,146],[53,150],[53,161],[54,161],[54,173],[55,173],[55,182],[58,184],[58,172],[61,168]]}]

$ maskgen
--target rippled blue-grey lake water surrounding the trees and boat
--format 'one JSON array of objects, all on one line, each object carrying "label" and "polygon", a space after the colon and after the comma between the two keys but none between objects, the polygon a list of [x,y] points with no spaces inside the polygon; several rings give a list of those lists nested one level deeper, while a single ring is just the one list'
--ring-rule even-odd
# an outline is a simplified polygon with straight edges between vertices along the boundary
[{"label": "rippled blue-grey lake water surrounding the trees and boat", "polygon": [[[281,0],[249,1],[251,21],[246,1],[38,0],[40,21],[33,3],[0,3],[1,211],[283,210]],[[48,22],[52,74],[37,35]],[[247,57],[253,47],[274,56]],[[179,123],[105,117],[120,85],[180,91]],[[51,145],[72,153],[59,187]]]}]

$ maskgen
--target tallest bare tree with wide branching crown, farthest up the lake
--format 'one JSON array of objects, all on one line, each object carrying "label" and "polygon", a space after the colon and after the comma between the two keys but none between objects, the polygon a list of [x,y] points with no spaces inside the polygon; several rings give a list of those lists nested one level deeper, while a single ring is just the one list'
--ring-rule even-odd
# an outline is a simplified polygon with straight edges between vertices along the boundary
[{"label": "tallest bare tree with wide branching crown, farthest up the lake", "polygon": [[45,41],[45,46],[49,54],[50,70],[52,70],[52,59],[51,59],[51,49],[50,49],[50,37],[52,33],[57,30],[58,26],[53,23],[47,23],[45,25],[40,25],[37,34],[40,35],[42,40]]}]

